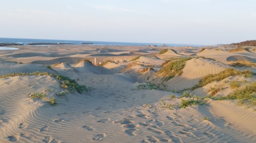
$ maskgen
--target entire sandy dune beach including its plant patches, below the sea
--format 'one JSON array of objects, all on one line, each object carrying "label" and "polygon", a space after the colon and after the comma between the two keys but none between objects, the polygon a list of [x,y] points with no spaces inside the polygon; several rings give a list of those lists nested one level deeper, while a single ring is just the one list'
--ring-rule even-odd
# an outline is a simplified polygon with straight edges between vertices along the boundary
[{"label": "entire sandy dune beach including its plant patches, below the sea", "polygon": [[7,47],[0,143],[256,142],[256,47]]}]

